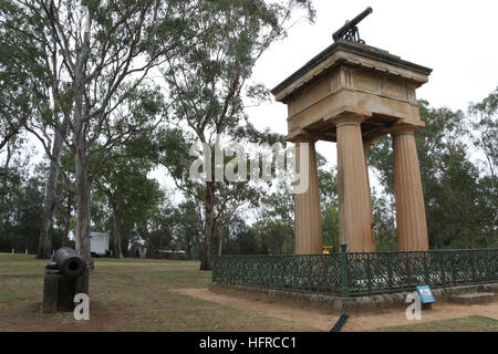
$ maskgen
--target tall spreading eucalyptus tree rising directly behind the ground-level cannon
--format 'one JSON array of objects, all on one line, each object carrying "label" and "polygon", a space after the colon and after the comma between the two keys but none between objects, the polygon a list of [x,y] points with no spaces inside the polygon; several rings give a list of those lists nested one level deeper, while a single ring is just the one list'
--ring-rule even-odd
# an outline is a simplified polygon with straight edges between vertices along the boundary
[{"label": "tall spreading eucalyptus tree rising directly behind the ground-level cannon", "polygon": [[[23,43],[15,48],[15,54],[32,64],[30,73],[41,70],[52,83],[54,104],[51,108],[45,100],[40,105],[42,133],[33,129],[33,134],[52,162],[56,163],[56,156],[44,134],[46,125],[60,133],[74,153],[74,188],[56,164],[65,187],[75,194],[76,249],[91,263],[93,176],[89,160],[95,159],[98,166],[114,146],[141,131],[145,117],[132,122],[126,110],[134,106],[133,100],[142,92],[145,77],[159,56],[170,59],[177,42],[185,40],[181,31],[189,15],[184,11],[184,1],[158,0],[6,0],[2,11],[4,27]],[[160,41],[153,42],[157,39]],[[43,49],[42,54],[30,55],[39,48]],[[63,93],[54,94],[55,82],[66,83]],[[69,103],[68,114],[58,121],[50,111],[63,106],[63,102]],[[43,114],[48,110],[49,114]]]}]

